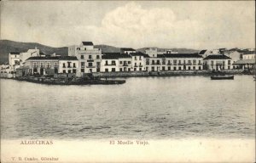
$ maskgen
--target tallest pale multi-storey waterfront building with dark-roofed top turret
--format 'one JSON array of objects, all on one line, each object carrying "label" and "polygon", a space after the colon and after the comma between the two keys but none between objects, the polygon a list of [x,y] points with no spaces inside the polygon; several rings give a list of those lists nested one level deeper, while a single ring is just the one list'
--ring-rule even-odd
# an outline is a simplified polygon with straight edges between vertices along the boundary
[{"label": "tallest pale multi-storey waterfront building with dark-roofed top turret", "polygon": [[92,42],[81,42],[79,46],[68,47],[68,56],[79,59],[79,76],[83,73],[100,72],[102,49],[94,48]]}]

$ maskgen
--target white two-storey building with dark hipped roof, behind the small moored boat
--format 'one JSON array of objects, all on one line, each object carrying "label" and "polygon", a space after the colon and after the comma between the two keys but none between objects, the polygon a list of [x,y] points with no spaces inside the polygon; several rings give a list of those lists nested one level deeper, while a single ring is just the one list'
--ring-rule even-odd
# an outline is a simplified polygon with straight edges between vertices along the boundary
[{"label": "white two-storey building with dark hipped roof, behind the small moored boat", "polygon": [[230,70],[233,69],[232,59],[224,54],[208,55],[204,62],[206,70]]}]

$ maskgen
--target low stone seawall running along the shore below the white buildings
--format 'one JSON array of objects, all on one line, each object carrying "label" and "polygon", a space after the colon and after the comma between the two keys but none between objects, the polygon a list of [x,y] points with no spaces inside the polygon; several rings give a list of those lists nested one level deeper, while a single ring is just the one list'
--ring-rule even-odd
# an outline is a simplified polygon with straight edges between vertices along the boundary
[{"label": "low stone seawall running along the shore below the white buildings", "polygon": [[[242,70],[224,70],[223,74],[242,74]],[[134,77],[134,76],[211,76],[211,70],[175,70],[175,71],[136,71],[136,72],[95,72],[93,76],[98,77]]]}]

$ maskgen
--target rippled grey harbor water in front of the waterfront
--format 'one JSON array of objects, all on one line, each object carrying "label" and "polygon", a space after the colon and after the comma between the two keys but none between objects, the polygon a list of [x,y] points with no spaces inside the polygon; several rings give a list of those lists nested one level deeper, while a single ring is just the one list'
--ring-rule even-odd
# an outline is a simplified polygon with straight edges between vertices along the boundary
[{"label": "rippled grey harbor water in front of the waterfront", "polygon": [[254,138],[253,76],[131,77],[122,85],[1,79],[4,139]]}]

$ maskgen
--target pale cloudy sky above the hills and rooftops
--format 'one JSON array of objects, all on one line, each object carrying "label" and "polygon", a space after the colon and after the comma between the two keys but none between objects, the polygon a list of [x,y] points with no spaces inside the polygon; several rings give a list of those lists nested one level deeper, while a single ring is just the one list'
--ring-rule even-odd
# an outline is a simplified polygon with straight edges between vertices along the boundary
[{"label": "pale cloudy sky above the hills and rooftops", "polygon": [[4,1],[1,39],[51,47],[255,48],[254,1]]}]

